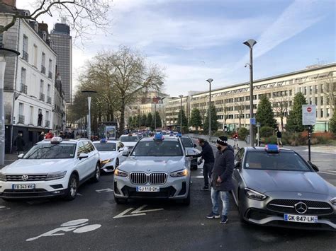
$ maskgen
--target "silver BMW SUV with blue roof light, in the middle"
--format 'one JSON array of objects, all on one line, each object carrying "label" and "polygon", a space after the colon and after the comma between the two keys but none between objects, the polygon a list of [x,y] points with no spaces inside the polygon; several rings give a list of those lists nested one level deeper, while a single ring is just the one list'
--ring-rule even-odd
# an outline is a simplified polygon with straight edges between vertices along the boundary
[{"label": "silver BMW SUV with blue roof light, in the middle", "polygon": [[138,141],[130,156],[114,172],[114,199],[164,198],[190,204],[190,159],[179,137],[163,136]]}]

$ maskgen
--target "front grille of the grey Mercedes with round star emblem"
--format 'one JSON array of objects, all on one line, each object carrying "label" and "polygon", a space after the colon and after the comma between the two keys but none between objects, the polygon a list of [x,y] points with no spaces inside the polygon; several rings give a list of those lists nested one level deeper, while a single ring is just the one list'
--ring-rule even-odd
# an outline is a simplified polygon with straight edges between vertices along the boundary
[{"label": "front grille of the grey Mercedes with round star emblem", "polygon": [[303,202],[307,206],[307,211],[304,214],[326,215],[332,214],[334,210],[327,202],[315,202],[298,199],[274,199],[267,204],[267,209],[279,213],[299,214],[295,209],[295,205]]}]

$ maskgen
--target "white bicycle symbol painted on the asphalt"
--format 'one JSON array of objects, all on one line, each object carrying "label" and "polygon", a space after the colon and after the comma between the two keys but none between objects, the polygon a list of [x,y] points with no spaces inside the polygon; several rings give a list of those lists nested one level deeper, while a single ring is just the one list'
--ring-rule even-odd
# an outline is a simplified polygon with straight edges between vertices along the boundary
[{"label": "white bicycle symbol painted on the asphalt", "polygon": [[42,235],[29,238],[26,241],[37,240],[38,238],[41,238],[41,237],[65,235],[65,233],[71,232],[71,231],[73,233],[86,233],[86,232],[90,232],[90,231],[96,230],[101,227],[100,224],[88,225],[89,224],[87,223],[88,221],[89,220],[87,218],[80,218],[74,221],[67,221],[65,223],[62,223],[60,228],[55,228],[53,230],[48,231],[47,233],[43,233]]}]

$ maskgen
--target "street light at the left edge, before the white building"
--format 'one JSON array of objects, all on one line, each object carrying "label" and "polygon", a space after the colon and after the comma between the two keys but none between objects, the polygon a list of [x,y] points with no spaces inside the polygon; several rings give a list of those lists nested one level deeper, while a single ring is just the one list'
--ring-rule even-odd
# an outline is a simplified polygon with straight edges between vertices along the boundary
[{"label": "street light at the left edge, before the white building", "polygon": [[[20,52],[13,49],[0,48],[0,165],[5,163],[5,111],[4,111],[4,78],[6,57],[17,57]],[[13,92],[15,95],[15,91]],[[12,124],[13,131],[13,124]]]}]

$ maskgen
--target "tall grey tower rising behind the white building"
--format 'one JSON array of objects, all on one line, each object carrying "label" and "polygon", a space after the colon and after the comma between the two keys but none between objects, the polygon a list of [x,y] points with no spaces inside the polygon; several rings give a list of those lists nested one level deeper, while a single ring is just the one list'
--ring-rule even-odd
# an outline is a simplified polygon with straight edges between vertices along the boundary
[{"label": "tall grey tower rising behind the white building", "polygon": [[66,102],[72,103],[72,37],[69,25],[56,23],[50,33],[52,48],[57,52],[57,74],[62,76]]}]

